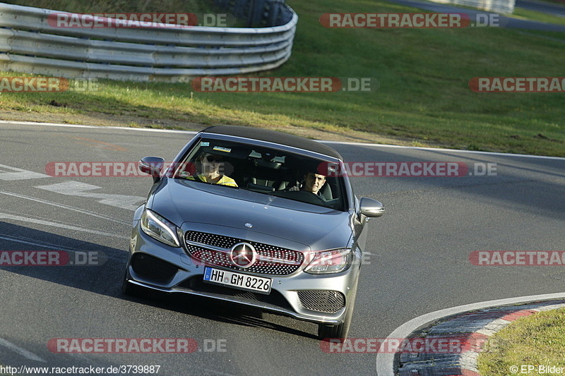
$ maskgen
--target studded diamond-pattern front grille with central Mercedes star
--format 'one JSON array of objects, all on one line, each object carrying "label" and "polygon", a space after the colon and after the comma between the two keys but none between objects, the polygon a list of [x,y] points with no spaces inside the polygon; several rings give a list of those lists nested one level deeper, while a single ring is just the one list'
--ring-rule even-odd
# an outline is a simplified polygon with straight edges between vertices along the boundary
[{"label": "studded diamond-pattern front grille with central Mercedes star", "polygon": [[[206,265],[218,265],[251,273],[292,274],[304,262],[304,253],[299,250],[280,248],[275,245],[256,243],[230,236],[186,231],[184,242],[190,255]],[[239,267],[230,260],[231,248],[237,243],[243,242],[253,245],[258,255],[256,262],[246,268]]]}]

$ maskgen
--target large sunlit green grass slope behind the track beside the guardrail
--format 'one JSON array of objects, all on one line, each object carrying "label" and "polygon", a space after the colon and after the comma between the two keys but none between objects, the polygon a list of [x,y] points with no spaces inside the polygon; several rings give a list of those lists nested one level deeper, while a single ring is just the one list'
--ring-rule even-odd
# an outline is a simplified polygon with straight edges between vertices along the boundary
[{"label": "large sunlit green grass slope behind the track beside the guardrail", "polygon": [[473,77],[563,75],[564,35],[504,28],[326,29],[319,23],[326,12],[416,10],[376,0],[288,4],[299,15],[292,57],[279,69],[256,75],[372,77],[379,89],[200,93],[189,84],[100,81],[100,90],[88,94],[4,93],[0,109],[53,114],[61,121],[128,116],[133,125],[176,121],[363,131],[417,145],[565,157],[565,93],[487,94],[468,87]]}]

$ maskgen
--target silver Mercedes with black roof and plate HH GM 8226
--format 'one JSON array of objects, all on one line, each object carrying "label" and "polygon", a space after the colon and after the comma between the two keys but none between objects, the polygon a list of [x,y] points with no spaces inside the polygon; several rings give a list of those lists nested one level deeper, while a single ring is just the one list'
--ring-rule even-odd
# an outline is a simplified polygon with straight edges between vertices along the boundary
[{"label": "silver Mercedes with black roof and plate HH GM 8226", "polygon": [[153,176],[133,217],[123,291],[203,296],[318,324],[346,338],[369,217],[343,158],[294,135],[242,126],[198,133]]}]

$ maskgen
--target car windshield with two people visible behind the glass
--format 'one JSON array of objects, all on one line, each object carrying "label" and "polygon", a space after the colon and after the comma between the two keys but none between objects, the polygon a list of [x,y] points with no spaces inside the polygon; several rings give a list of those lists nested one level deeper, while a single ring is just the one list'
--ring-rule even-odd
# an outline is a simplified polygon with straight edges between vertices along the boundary
[{"label": "car windshield with two people visible behind the glass", "polygon": [[201,138],[174,178],[251,190],[345,211],[343,178],[328,176],[328,161],[251,144]]}]

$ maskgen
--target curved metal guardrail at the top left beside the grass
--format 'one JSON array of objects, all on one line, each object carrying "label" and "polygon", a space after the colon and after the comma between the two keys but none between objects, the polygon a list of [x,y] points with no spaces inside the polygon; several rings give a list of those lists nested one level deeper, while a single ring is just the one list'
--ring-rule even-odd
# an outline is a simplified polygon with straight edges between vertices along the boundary
[{"label": "curved metal guardrail at the top left beside the grass", "polygon": [[284,1],[218,4],[236,16],[248,11],[248,23],[273,26],[56,28],[47,17],[59,11],[0,3],[0,70],[180,82],[199,75],[265,71],[290,58],[298,16]]}]

